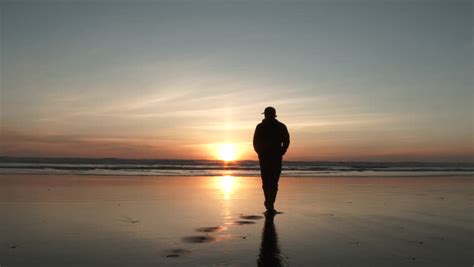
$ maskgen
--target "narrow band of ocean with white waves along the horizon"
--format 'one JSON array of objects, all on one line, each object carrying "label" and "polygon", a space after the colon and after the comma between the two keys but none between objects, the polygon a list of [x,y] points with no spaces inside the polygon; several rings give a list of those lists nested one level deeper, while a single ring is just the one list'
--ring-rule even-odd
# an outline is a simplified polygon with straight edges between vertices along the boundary
[{"label": "narrow band of ocean with white waves along the horizon", "polygon": [[[259,176],[258,161],[0,157],[0,174]],[[474,176],[474,163],[284,161],[282,176]]]}]

